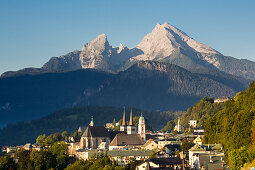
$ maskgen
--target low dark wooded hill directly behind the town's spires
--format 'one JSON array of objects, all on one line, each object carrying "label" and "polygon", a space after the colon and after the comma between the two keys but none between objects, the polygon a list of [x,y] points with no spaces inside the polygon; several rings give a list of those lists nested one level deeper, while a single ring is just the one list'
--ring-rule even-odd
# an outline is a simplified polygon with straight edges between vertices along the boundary
[{"label": "low dark wooded hill directly behind the town's spires", "polygon": [[[134,123],[138,122],[141,113],[147,120],[147,128],[154,130],[161,129],[167,121],[175,119],[181,112],[159,112],[147,111],[133,108]],[[130,108],[126,109],[126,120],[129,121]],[[33,143],[37,136],[42,134],[53,134],[56,132],[68,131],[73,133],[79,126],[87,126],[91,116],[94,117],[96,126],[112,123],[115,119],[118,122],[123,116],[123,108],[114,107],[75,107],[62,109],[41,119],[9,124],[0,130],[0,143],[2,145],[20,145]],[[149,128],[151,129],[151,128]]]}]

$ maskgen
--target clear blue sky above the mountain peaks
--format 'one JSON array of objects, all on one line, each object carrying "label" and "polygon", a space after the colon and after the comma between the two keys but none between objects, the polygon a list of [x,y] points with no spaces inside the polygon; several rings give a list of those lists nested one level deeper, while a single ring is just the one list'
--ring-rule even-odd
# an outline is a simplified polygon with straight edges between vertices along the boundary
[{"label": "clear blue sky above the mountain peaks", "polygon": [[105,33],[135,47],[168,22],[224,55],[255,61],[254,0],[0,0],[0,74],[41,67]]}]

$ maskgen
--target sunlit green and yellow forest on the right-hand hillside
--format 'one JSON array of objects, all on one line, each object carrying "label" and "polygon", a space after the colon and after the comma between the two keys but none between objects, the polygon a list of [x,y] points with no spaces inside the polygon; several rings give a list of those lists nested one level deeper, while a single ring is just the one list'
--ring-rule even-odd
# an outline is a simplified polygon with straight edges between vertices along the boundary
[{"label": "sunlit green and yellow forest on the right-hand hillside", "polygon": [[255,82],[205,123],[205,143],[222,143],[233,169],[255,158]]}]

